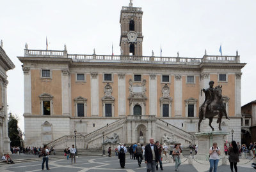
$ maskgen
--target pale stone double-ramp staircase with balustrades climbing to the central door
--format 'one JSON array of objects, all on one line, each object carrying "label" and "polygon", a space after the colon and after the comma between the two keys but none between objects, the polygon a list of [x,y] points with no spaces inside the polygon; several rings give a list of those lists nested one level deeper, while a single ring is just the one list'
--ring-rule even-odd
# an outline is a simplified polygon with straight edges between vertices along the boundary
[{"label": "pale stone double-ramp staircase with balustrades climbing to the central door", "polygon": [[[126,123],[131,122],[131,121],[136,121],[136,122],[147,122],[150,120],[151,122],[156,122],[156,125],[160,127],[161,129],[165,130],[166,133],[168,134],[173,134],[177,138],[180,138],[182,140],[185,140],[186,143],[193,143],[194,138],[193,135],[180,129],[179,127],[175,127],[172,124],[169,124],[168,122],[165,122],[164,120],[160,118],[156,118],[155,116],[152,115],[144,115],[144,116],[127,116],[124,118],[121,118],[120,120],[116,120],[115,122],[112,122],[111,124],[108,124],[104,127],[101,127],[100,129],[97,129],[93,131],[92,133],[86,134],[84,136],[76,136],[76,141],[79,141],[80,143],[83,143],[83,146],[80,145],[80,154],[83,155],[89,155],[91,154],[93,150],[93,155],[99,155],[100,153],[100,148],[95,147],[92,148],[90,147],[90,144],[94,144],[96,141],[98,145],[102,145],[102,133],[105,134],[112,134],[115,133],[116,129],[122,128],[122,126],[125,126]],[[126,129],[126,127],[124,127]],[[123,130],[122,132],[125,132]],[[57,140],[51,141],[48,143],[48,147],[56,147],[56,150],[58,150],[58,153],[63,154],[63,148],[67,147],[67,145],[72,145],[74,144],[75,141],[75,136],[70,135],[70,136],[62,136],[61,138],[58,138]],[[100,141],[100,143],[99,143]],[[68,143],[68,144],[67,144]],[[70,143],[70,144],[69,144]],[[89,147],[88,147],[89,145]],[[87,150],[90,149],[90,152]],[[92,154],[91,154],[92,155]]]}]

